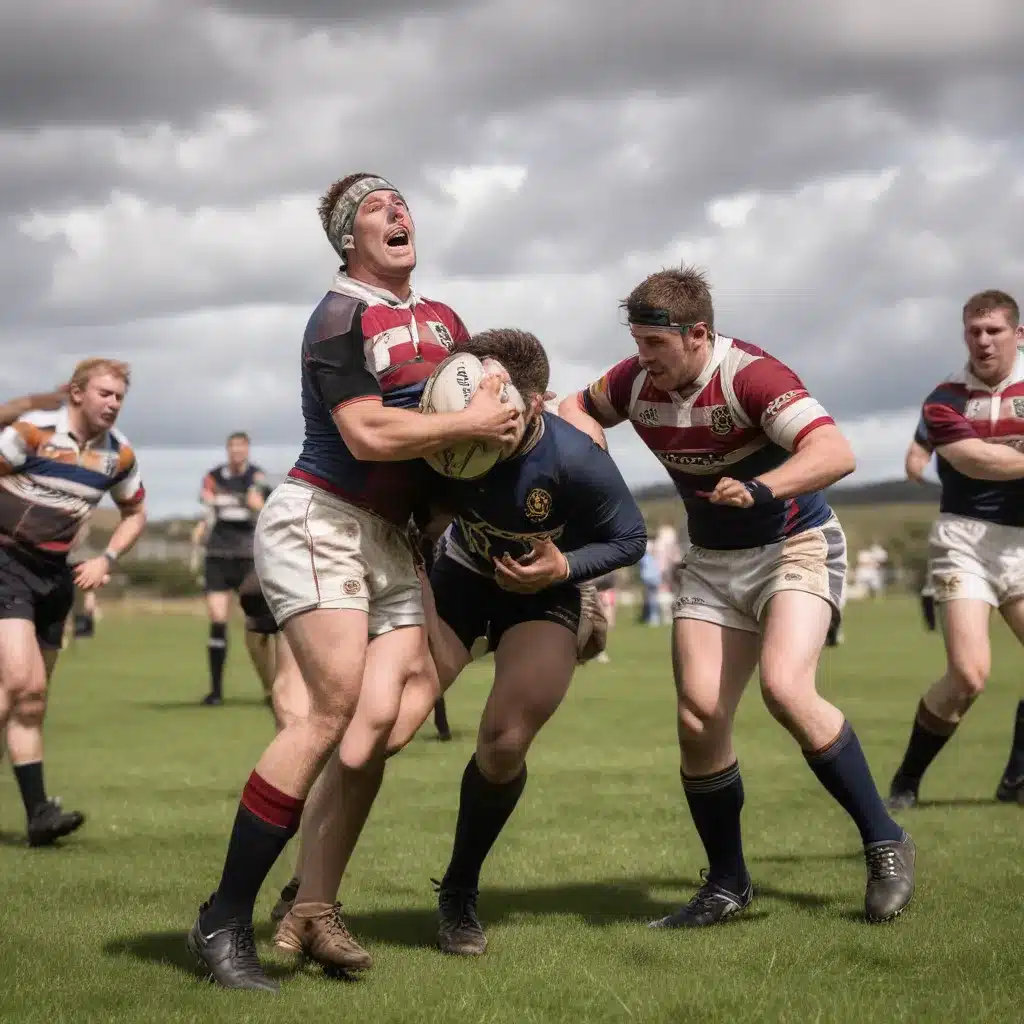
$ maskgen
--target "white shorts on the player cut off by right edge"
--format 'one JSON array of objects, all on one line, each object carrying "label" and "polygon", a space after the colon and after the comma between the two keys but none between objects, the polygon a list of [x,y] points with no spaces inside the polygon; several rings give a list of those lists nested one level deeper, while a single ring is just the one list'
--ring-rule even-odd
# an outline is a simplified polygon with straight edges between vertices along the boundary
[{"label": "white shorts on the player cut off by right edge", "polygon": [[928,539],[928,566],[937,603],[1002,607],[1024,597],[1024,526],[944,513]]}]

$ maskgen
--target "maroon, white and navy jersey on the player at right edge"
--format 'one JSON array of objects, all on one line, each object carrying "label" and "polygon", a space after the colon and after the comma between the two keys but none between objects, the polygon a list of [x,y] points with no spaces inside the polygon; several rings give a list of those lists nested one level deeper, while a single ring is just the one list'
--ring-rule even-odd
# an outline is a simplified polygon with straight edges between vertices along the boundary
[{"label": "maroon, white and navy jersey on the player at right edge", "polygon": [[1024,354],[1010,377],[994,387],[982,383],[970,367],[943,381],[922,410],[924,446],[938,451],[940,512],[983,519],[1004,526],[1024,526],[1024,479],[976,480],[942,458],[943,444],[980,438],[990,444],[1024,446]]}]

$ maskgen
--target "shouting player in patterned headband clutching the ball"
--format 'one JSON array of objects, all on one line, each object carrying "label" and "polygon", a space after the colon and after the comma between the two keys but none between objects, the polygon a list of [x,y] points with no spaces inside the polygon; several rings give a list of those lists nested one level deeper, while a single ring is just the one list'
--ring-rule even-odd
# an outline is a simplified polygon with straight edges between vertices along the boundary
[{"label": "shouting player in patterned headband clutching the ball", "polygon": [[[467,439],[504,443],[519,419],[495,376],[463,412],[420,415],[424,382],[468,334],[452,309],[413,291],[415,228],[401,194],[353,174],[328,189],[319,213],[342,265],[302,341],[302,453],[255,539],[263,595],[309,709],[250,775],[220,884],[188,937],[212,978],[232,988],[278,988],[256,955],[253,906],[356,701],[386,720],[406,681],[432,671],[407,532],[428,473],[420,457]],[[364,739],[375,741],[372,729]],[[315,814],[304,827],[315,835]]]}]

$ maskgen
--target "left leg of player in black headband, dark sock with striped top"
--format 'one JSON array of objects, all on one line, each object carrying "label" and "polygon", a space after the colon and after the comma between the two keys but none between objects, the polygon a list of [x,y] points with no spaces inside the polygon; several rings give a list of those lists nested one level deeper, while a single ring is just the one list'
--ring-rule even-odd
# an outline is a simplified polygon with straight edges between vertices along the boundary
[{"label": "left leg of player in black headband, dark sock with striped top", "polygon": [[[708,617],[689,617],[697,609]],[[676,614],[672,659],[679,774],[709,867],[690,900],[650,927],[701,928],[730,919],[754,898],[743,859],[743,782],[732,748],[732,720],[757,665],[759,638],[755,624],[714,604],[677,602]]]}]

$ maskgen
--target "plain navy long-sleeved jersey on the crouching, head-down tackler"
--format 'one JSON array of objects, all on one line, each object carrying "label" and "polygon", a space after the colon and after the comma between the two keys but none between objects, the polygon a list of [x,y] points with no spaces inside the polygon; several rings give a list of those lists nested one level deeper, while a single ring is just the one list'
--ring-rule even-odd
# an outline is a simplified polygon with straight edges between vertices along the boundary
[{"label": "plain navy long-sleeved jersey on the crouching, head-down tackler", "polygon": [[571,582],[632,565],[647,546],[643,516],[611,457],[550,413],[539,437],[485,476],[442,479],[439,500],[455,513],[445,553],[488,577],[493,559],[520,558],[542,537],[565,555]]}]

